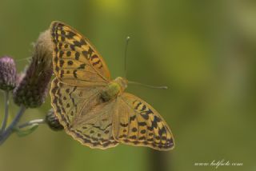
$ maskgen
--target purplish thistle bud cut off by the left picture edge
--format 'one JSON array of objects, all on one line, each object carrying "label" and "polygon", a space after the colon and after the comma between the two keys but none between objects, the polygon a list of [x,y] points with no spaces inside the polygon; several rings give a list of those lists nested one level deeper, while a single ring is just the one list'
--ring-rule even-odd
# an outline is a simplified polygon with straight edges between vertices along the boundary
[{"label": "purplish thistle bud cut off by the left picture edge", "polygon": [[9,91],[16,86],[16,66],[13,58],[0,58],[0,89]]}]

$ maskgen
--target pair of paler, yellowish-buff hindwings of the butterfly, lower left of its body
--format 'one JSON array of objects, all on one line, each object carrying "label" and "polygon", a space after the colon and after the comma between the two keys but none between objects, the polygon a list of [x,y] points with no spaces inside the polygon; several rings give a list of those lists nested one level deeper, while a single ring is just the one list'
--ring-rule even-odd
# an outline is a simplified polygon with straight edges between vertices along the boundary
[{"label": "pair of paler, yellowish-buff hindwings of the butterfly, lower left of its body", "polygon": [[54,113],[66,133],[91,148],[106,149],[118,142],[112,136],[110,112],[114,101],[102,103],[99,92],[103,87],[70,86],[54,78],[50,91]]}]

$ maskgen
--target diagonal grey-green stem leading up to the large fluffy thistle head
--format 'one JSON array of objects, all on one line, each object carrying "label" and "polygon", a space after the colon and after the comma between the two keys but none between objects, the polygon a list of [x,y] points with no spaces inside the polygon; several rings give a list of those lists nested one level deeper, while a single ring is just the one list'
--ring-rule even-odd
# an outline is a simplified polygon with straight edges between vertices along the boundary
[{"label": "diagonal grey-green stem leading up to the large fluffy thistle head", "polygon": [[6,139],[10,136],[11,133],[13,133],[14,127],[18,124],[18,121],[21,119],[25,110],[26,110],[26,107],[24,105],[21,105],[17,115],[14,117],[14,120],[10,123],[7,129],[1,134],[0,145],[2,145],[4,141],[6,141]]}]

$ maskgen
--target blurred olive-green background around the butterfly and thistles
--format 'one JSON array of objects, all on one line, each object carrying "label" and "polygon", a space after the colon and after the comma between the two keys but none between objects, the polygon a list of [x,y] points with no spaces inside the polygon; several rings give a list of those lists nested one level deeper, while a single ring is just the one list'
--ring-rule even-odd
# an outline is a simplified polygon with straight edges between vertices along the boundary
[{"label": "blurred olive-green background around the butterfly and thistles", "polygon": [[[0,170],[214,170],[195,162],[224,159],[243,163],[218,170],[256,170],[256,2],[1,0],[0,55],[22,71],[38,34],[59,20],[90,39],[110,68],[128,79],[169,89],[130,85],[127,91],[158,109],[170,125],[176,147],[169,152],[118,145],[90,149],[64,131],[40,125],[35,133],[12,135],[0,147]],[[3,115],[3,95],[0,110]],[[11,104],[14,116],[17,106]],[[42,118],[28,109],[22,121]]]}]

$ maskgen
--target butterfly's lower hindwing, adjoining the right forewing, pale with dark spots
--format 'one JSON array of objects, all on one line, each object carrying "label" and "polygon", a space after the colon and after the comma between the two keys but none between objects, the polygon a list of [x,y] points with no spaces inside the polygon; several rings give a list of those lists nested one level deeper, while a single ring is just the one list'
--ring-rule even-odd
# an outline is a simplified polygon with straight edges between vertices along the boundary
[{"label": "butterfly's lower hindwing, adjoining the right forewing, pale with dark spots", "polygon": [[70,129],[70,135],[90,148],[107,149],[118,145],[113,137],[113,109],[115,100],[102,103],[96,102],[92,109],[92,101],[98,101],[98,96],[88,99],[81,117],[78,117]]}]

